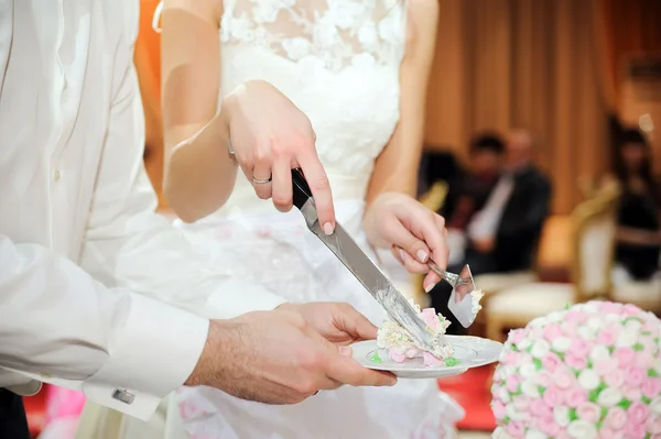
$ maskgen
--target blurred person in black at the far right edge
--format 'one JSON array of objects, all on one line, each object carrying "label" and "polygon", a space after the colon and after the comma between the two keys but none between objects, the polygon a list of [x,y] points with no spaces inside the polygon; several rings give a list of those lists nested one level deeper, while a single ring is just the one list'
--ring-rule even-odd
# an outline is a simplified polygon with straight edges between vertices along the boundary
[{"label": "blurred person in black at the far right edge", "polygon": [[613,178],[621,190],[614,282],[650,279],[659,272],[661,187],[652,175],[650,146],[640,131],[622,133]]}]

